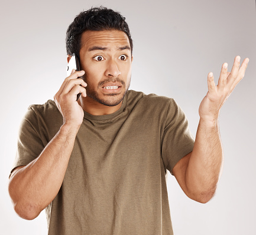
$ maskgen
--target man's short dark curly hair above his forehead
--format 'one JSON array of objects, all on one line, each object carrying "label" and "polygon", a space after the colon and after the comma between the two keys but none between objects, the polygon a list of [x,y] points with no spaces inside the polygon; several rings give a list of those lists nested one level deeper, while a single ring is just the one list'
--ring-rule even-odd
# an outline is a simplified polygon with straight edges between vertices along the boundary
[{"label": "man's short dark curly hair above his forehead", "polygon": [[125,17],[119,12],[100,6],[80,12],[69,25],[66,34],[67,55],[76,54],[79,57],[83,32],[87,30],[102,31],[111,29],[125,32],[129,39],[132,54],[132,39],[128,24],[125,22]]}]

